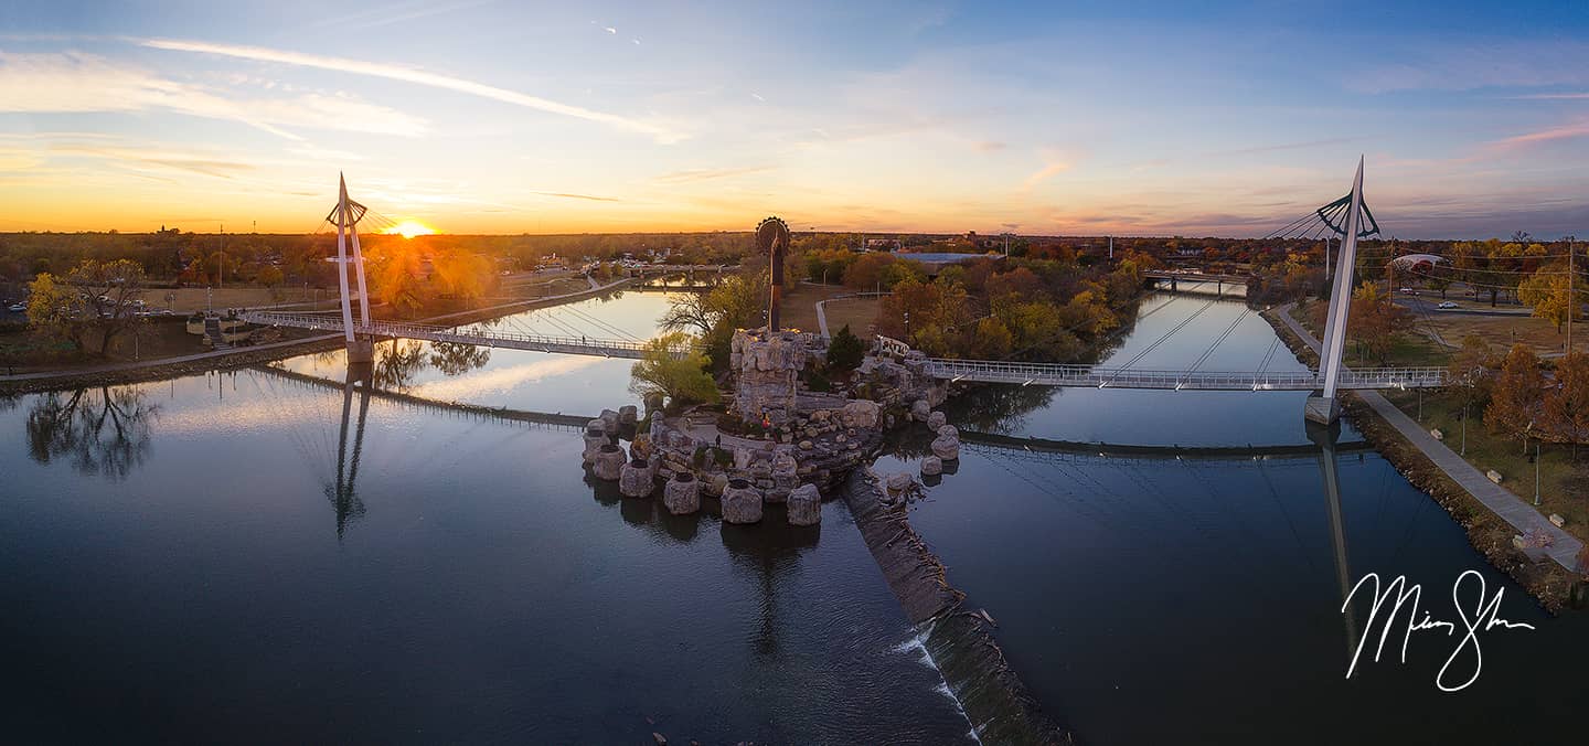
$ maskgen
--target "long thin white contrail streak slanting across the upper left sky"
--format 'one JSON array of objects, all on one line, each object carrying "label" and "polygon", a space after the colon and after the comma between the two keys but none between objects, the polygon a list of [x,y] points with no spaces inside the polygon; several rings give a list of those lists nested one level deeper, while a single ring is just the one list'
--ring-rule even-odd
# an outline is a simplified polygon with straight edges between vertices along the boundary
[{"label": "long thin white contrail streak slanting across the upper left sky", "polygon": [[267,49],[262,46],[211,45],[205,41],[183,41],[183,40],[165,40],[165,38],[146,40],[143,41],[143,46],[154,49],[183,51],[183,52],[218,54],[222,57],[249,59],[256,62],[276,62],[283,65],[313,67],[319,70],[334,70],[351,75],[369,75],[373,78],[413,83],[418,86],[440,87],[447,91],[456,91],[461,94],[478,95],[481,99],[497,100],[502,103],[512,103],[515,107],[534,108],[551,115],[572,116],[575,119],[609,124],[612,127],[629,132],[647,134],[656,138],[656,142],[659,143],[675,143],[679,140],[683,140],[685,137],[683,134],[674,132],[655,122],[631,119],[620,115],[609,115],[605,111],[593,111],[583,107],[574,107],[569,103],[559,103],[537,95],[521,94],[518,91],[508,91],[505,87],[488,86],[485,83],[475,83],[470,80],[454,78],[450,75],[427,73],[424,70],[416,70],[412,67],[388,65],[381,62],[364,62],[346,57],[327,57],[321,54]]}]

